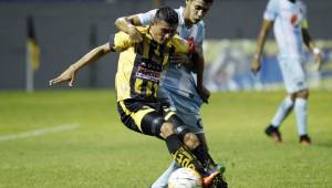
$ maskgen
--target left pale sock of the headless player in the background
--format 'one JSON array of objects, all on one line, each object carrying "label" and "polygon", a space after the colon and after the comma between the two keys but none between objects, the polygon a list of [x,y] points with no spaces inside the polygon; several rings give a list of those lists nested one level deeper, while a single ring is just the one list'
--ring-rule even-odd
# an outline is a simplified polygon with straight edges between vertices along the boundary
[{"label": "left pale sock of the headless player in the background", "polygon": [[274,127],[279,127],[280,124],[282,123],[282,121],[288,116],[288,114],[291,112],[292,107],[293,107],[293,101],[291,100],[290,96],[287,96],[281,105],[279,106],[274,117],[272,118],[271,124]]}]

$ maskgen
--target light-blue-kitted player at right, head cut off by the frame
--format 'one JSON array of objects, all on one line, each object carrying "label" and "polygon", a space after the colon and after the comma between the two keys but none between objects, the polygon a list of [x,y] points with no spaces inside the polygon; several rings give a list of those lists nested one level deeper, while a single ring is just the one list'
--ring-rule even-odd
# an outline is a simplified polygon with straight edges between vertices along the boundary
[{"label": "light-blue-kitted player at right, head cut off by the frame", "polygon": [[278,108],[266,134],[281,142],[279,126],[288,114],[294,109],[298,123],[298,133],[302,145],[311,144],[307,130],[307,105],[309,88],[305,82],[303,65],[304,43],[313,52],[315,62],[321,63],[320,50],[314,45],[308,31],[307,9],[301,0],[269,0],[263,15],[262,28],[257,42],[251,70],[260,70],[260,59],[270,29],[274,29],[274,38],[279,48],[278,62],[283,76],[288,95]]}]

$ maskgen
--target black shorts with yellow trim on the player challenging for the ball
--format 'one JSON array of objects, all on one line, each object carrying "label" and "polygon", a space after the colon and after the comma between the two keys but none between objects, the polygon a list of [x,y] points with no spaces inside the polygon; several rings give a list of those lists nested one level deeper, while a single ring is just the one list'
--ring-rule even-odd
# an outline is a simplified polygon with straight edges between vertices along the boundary
[{"label": "black shorts with yellow trim on the player challenging for the ball", "polygon": [[134,98],[117,102],[122,123],[132,130],[159,137],[162,125],[173,115],[167,106],[159,102],[146,102]]}]

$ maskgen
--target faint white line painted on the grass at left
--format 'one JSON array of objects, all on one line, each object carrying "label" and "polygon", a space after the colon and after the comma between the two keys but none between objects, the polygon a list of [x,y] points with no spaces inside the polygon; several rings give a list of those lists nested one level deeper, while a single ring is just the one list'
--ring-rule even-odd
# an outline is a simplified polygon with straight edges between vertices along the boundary
[{"label": "faint white line painted on the grass at left", "polygon": [[12,134],[12,135],[0,135],[0,142],[7,142],[7,140],[20,139],[20,138],[30,138],[30,137],[35,137],[35,136],[50,134],[50,133],[65,132],[65,130],[77,128],[79,126],[80,124],[64,124],[64,125],[58,125],[49,128],[38,128],[32,132],[24,132],[24,133]]}]

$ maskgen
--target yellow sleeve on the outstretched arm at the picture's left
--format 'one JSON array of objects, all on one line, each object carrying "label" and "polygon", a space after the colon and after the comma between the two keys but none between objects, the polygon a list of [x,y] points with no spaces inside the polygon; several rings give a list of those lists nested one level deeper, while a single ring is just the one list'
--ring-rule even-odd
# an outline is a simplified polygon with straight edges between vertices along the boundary
[{"label": "yellow sleeve on the outstretched arm at the picture's left", "polygon": [[117,32],[115,34],[111,34],[108,44],[111,49],[115,50],[116,52],[121,52],[129,48],[133,43],[131,42],[128,34],[125,32]]}]

